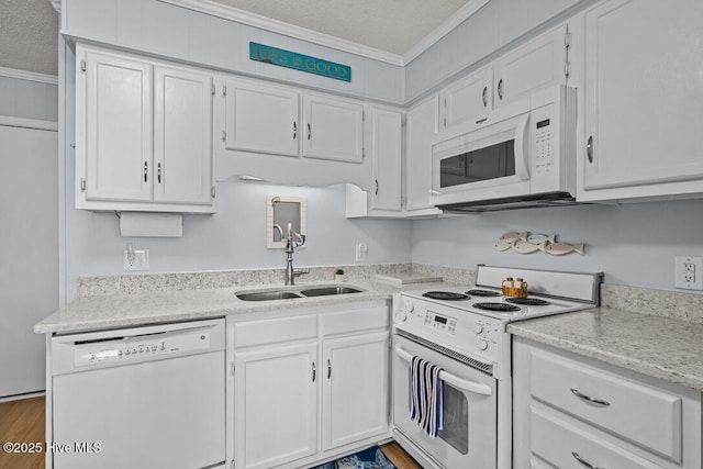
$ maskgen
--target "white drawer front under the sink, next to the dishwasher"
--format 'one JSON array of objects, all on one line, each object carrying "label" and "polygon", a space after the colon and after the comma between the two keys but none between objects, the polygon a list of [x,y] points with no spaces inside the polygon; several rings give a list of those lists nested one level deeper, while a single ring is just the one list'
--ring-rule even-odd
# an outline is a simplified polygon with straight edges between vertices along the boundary
[{"label": "white drawer front under the sink, next to the dishwasher", "polygon": [[315,314],[234,324],[234,346],[237,348],[305,338],[317,338]]}]

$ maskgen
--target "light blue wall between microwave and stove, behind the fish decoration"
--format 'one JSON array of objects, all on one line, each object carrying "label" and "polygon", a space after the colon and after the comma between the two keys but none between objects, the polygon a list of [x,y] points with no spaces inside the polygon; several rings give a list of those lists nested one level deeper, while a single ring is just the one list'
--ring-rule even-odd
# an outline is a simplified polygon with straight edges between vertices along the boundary
[{"label": "light blue wall between microwave and stove, behind the fish decoration", "polygon": [[[605,282],[673,289],[674,256],[703,256],[703,201],[578,205],[483,213],[413,223],[415,263],[473,268],[477,264],[603,271]],[[496,252],[505,232],[557,234],[585,243],[583,256]]]}]

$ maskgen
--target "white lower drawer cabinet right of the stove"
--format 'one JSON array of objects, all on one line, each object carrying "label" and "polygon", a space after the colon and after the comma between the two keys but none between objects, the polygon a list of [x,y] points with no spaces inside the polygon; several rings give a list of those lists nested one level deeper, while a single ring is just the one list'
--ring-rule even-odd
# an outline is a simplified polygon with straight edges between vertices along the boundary
[{"label": "white lower drawer cabinet right of the stove", "polygon": [[701,393],[513,340],[513,467],[701,467]]}]

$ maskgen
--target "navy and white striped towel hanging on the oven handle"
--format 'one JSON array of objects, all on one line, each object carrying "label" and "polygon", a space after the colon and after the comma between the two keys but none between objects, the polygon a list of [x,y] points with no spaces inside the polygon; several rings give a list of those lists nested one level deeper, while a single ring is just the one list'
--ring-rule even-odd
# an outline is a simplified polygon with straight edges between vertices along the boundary
[{"label": "navy and white striped towel hanging on the oven handle", "polygon": [[439,368],[429,361],[413,357],[411,362],[410,418],[432,438],[444,426],[443,382]]}]

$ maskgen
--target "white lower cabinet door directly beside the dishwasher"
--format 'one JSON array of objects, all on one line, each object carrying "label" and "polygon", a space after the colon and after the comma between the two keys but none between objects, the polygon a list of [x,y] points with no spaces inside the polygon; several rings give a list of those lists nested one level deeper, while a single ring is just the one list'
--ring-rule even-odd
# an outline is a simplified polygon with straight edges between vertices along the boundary
[{"label": "white lower cabinet door directly beside the dishwasher", "polygon": [[317,451],[317,344],[234,354],[237,468],[268,469]]}]

